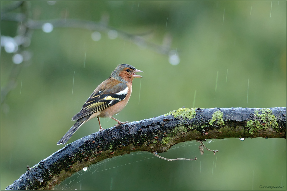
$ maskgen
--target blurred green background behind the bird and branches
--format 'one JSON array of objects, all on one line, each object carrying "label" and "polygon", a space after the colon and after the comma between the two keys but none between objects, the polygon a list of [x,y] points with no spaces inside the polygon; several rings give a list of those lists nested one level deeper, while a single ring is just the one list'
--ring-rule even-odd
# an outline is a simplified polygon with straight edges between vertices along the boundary
[{"label": "blurred green background behind the bird and branches", "polygon": [[[9,3],[1,1],[1,8]],[[31,1],[30,13],[34,20],[108,18],[109,27],[148,32],[142,36],[146,42],[170,42],[176,53],[160,54],[120,33],[110,39],[108,30],[96,30],[98,41],[92,30],[33,30],[30,46],[21,49],[32,57],[20,63],[17,84],[1,104],[1,190],[24,174],[27,165],[62,148],[56,143],[74,124],[71,117],[121,63],[144,71],[117,115],[121,121],[192,108],[195,91],[194,106],[200,108],[286,107],[286,1]],[[2,36],[14,38],[20,25],[2,20],[1,41]],[[14,54],[1,47],[1,88],[15,65]],[[108,128],[115,121],[101,123]],[[98,121],[91,120],[68,143],[98,129]],[[200,155],[198,145],[181,143],[160,153],[167,158],[196,156],[197,161],[169,162],[147,152],[131,153],[81,170],[55,189],[259,190],[262,185],[286,190],[286,139],[212,140],[206,146],[218,149],[216,155]]]}]

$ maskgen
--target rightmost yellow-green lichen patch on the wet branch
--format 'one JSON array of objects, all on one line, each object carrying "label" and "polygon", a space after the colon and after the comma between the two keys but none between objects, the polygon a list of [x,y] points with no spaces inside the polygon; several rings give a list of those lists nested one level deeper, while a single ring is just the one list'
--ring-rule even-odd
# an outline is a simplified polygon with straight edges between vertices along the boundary
[{"label": "rightmost yellow-green lichen patch on the wet branch", "polygon": [[[249,120],[246,123],[247,128],[249,128],[249,133],[253,134],[258,129],[266,129],[268,127],[277,128],[277,118],[272,114],[272,110],[263,108],[260,110],[262,114],[259,114],[259,110],[254,111],[254,121]],[[261,122],[259,121],[261,120]]]}]

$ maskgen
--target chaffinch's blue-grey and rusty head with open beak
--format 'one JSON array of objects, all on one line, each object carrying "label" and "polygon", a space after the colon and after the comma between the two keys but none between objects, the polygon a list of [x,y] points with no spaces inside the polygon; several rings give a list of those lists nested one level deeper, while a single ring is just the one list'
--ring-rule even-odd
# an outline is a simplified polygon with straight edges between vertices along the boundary
[{"label": "chaffinch's blue-grey and rusty head with open beak", "polygon": [[120,64],[110,75],[111,77],[120,81],[133,81],[134,78],[142,78],[142,76],[135,74],[136,72],[143,72],[135,69],[135,67],[128,64]]}]

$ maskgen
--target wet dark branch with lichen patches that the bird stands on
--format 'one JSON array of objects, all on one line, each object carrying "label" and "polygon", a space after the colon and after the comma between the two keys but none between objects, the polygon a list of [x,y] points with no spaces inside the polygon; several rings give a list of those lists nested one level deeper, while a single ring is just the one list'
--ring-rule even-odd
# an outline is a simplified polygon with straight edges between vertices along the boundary
[{"label": "wet dark branch with lichen patches that the bird stands on", "polygon": [[286,108],[181,108],[108,128],[66,145],[31,167],[6,189],[53,190],[73,173],[107,158],[136,151],[148,151],[160,157],[157,153],[192,140],[201,143],[201,150],[206,148],[202,140],[230,137],[286,139]]}]

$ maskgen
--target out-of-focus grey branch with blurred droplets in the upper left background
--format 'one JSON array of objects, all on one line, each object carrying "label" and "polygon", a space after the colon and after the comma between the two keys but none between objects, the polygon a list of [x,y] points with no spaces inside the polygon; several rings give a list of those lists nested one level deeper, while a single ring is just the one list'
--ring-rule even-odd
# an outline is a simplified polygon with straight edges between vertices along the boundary
[{"label": "out-of-focus grey branch with blurred droplets in the upper left background", "polygon": [[[18,7],[22,7],[22,13],[13,13],[8,12]],[[1,10],[1,20],[6,21],[14,21],[19,22],[21,25],[21,30],[18,30],[17,35],[22,36],[23,38],[29,37],[32,38],[32,31],[36,29],[42,29],[42,26],[45,23],[51,23],[55,28],[81,28],[92,31],[103,31],[107,32],[109,30],[116,30],[119,34],[119,37],[129,40],[138,46],[146,47],[152,51],[158,52],[160,54],[166,54],[173,50],[171,46],[171,37],[165,36],[162,45],[155,44],[153,42],[147,41],[143,36],[152,34],[153,29],[147,32],[143,32],[141,34],[130,34],[124,31],[121,31],[117,28],[108,26],[106,22],[94,22],[89,20],[81,20],[81,19],[53,19],[53,20],[32,20],[30,19],[30,5],[29,2],[16,2],[11,6],[3,9],[3,13]],[[22,45],[19,46],[17,53],[21,51]],[[176,50],[179,52],[179,50]],[[10,77],[5,87],[1,89],[1,103],[4,102],[7,94],[15,87],[16,80],[18,75],[20,74],[22,68],[22,64],[15,65],[11,70]]]}]

